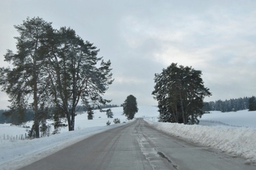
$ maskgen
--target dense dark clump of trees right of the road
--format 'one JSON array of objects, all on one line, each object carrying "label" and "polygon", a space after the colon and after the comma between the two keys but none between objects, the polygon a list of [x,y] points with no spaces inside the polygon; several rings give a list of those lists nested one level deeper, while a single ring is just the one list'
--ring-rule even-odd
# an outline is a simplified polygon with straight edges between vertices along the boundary
[{"label": "dense dark clump of trees right of the road", "polygon": [[203,98],[210,96],[203,85],[201,71],[172,63],[161,74],[155,74],[152,94],[158,101],[159,121],[196,123],[203,114]]}]

